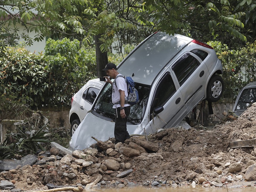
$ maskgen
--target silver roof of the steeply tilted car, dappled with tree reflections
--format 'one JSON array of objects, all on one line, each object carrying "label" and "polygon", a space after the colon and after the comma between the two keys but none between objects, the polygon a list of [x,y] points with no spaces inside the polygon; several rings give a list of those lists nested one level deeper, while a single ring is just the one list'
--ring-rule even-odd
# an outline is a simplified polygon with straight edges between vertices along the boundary
[{"label": "silver roof of the steeply tilted car, dappled with tree reflections", "polygon": [[193,39],[157,32],[150,35],[118,65],[118,72],[133,81],[151,85],[155,77]]}]

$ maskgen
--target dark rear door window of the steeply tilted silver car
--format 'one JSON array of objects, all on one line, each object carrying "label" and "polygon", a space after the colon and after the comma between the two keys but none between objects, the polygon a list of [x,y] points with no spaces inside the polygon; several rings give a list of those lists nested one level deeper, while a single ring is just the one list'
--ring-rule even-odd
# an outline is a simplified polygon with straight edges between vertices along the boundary
[{"label": "dark rear door window of the steeply tilted silver car", "polygon": [[174,71],[180,86],[182,86],[194,70],[196,70],[199,64],[198,60],[187,53],[172,66],[172,70]]}]

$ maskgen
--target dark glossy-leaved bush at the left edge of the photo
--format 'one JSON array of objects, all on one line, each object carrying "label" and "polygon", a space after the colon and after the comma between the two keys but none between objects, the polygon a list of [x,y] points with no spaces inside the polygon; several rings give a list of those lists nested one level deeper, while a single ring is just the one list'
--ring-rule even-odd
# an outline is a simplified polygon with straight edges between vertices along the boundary
[{"label": "dark glossy-leaved bush at the left edge of the photo", "polygon": [[1,94],[13,92],[17,100],[38,106],[45,101],[47,75],[43,55],[9,47],[6,57],[0,59]]}]

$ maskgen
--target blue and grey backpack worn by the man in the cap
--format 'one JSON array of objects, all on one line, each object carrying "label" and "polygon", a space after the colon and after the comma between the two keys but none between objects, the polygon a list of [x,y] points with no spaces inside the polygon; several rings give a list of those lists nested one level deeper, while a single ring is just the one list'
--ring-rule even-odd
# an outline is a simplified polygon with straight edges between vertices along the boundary
[{"label": "blue and grey backpack worn by the man in the cap", "polygon": [[125,77],[125,76],[117,76],[118,77],[123,77],[126,80],[127,83],[127,88],[128,88],[128,98],[127,101],[128,103],[133,106],[139,102],[139,94],[137,89],[135,89],[135,83],[131,77]]}]

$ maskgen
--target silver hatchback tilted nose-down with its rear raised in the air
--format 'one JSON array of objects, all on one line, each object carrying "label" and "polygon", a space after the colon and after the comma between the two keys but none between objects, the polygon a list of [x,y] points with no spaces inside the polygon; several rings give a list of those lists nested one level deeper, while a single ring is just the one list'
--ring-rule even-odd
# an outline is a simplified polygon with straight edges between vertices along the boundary
[{"label": "silver hatchback tilted nose-down with its rear raised in the air", "polygon": [[[213,48],[183,35],[150,35],[117,66],[133,78],[139,103],[131,107],[129,134],[148,135],[178,125],[203,99],[218,101],[223,94],[221,61]],[[71,149],[85,149],[114,137],[112,87],[106,83],[91,111],[74,132]]]}]

